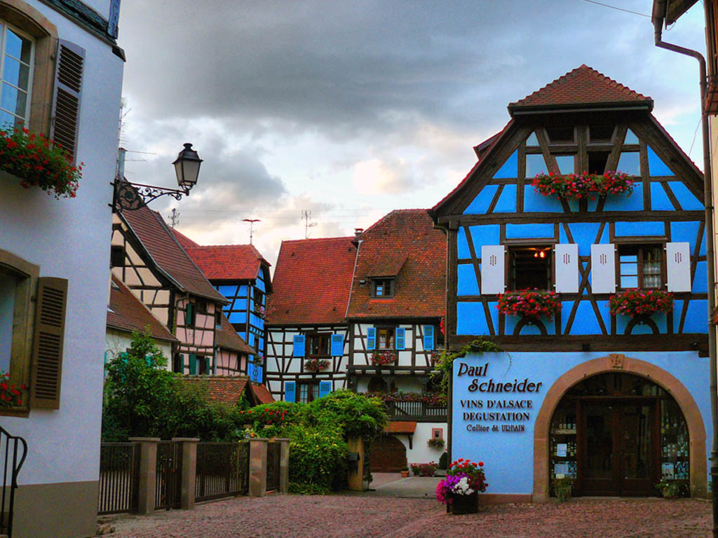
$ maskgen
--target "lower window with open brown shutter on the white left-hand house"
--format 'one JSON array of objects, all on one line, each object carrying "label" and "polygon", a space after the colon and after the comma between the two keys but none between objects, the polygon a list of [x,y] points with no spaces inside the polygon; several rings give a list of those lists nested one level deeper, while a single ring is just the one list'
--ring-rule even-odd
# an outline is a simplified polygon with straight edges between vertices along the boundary
[{"label": "lower window with open brown shutter on the white left-hand house", "polygon": [[29,406],[23,397],[4,412],[60,407],[66,303],[67,280],[39,278],[37,265],[0,250],[0,368],[31,387]]}]

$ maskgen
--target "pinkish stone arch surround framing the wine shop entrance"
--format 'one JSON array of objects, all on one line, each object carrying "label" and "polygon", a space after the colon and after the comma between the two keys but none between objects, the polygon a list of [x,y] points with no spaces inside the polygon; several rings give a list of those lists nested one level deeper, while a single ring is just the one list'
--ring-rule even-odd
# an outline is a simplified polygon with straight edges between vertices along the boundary
[{"label": "pinkish stone arch surround framing the wine shop entrance", "polygon": [[563,374],[546,393],[533,428],[533,501],[549,498],[549,428],[551,416],[564,394],[586,377],[604,372],[625,372],[650,379],[670,392],[686,419],[690,438],[691,496],[707,495],[706,430],[696,401],[676,377],[655,364],[622,354],[593,359]]}]

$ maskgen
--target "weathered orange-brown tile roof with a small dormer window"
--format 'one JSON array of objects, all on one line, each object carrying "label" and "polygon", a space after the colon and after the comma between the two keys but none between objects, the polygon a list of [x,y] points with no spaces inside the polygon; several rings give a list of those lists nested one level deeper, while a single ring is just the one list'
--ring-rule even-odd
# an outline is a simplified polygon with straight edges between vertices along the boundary
[{"label": "weathered orange-brown tile roof with a small dormer window", "polygon": [[[434,230],[426,209],[393,211],[359,239],[348,318],[437,318],[444,314],[446,235]],[[393,298],[372,298],[368,277],[373,268],[384,260],[402,258],[406,261],[398,271]]]}]

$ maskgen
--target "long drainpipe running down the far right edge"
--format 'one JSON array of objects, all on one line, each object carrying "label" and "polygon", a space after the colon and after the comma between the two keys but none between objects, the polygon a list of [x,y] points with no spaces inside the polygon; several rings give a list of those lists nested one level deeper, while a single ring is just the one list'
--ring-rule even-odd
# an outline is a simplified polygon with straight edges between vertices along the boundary
[{"label": "long drainpipe running down the far right edge", "polygon": [[[704,6],[708,10],[709,2]],[[711,184],[711,156],[708,131],[708,114],[706,113],[706,93],[708,86],[706,60],[700,52],[686,49],[678,45],[661,41],[663,19],[666,14],[666,0],[658,0],[653,4],[653,35],[656,47],[671,50],[679,54],[694,57],[698,60],[701,83],[701,131],[703,133],[703,202],[706,207],[706,261],[708,273],[708,357],[710,362],[710,397],[711,418],[713,425],[713,443],[711,447],[711,491],[713,497],[713,537],[718,538],[718,381],[716,365],[716,329],[712,324],[711,315],[715,309],[715,268],[713,258],[713,195]],[[708,19],[707,19],[708,20]]]}]

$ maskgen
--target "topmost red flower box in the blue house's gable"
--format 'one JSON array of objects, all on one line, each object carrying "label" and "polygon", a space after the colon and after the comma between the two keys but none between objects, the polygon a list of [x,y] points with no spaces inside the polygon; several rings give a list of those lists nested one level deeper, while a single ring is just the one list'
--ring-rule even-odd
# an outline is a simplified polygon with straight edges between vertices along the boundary
[{"label": "topmost red flower box in the blue house's gable", "polygon": [[605,174],[537,174],[531,184],[536,194],[562,199],[596,199],[608,194],[630,194],[634,176],[609,171]]}]

